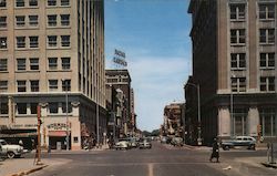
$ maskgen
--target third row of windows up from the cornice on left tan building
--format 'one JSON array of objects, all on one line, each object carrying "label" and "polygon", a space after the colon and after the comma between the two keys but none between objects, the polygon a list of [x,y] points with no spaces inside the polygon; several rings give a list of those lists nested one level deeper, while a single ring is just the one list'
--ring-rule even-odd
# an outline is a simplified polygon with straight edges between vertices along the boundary
[{"label": "third row of windows up from the cornice on left tan building", "polygon": [[[17,39],[17,49],[25,49],[27,48],[27,39],[29,39],[30,49],[39,48],[39,37],[16,37]],[[60,46],[69,48],[70,46],[70,35],[61,35],[60,37]],[[57,48],[58,46],[58,35],[48,35],[48,46]],[[0,37],[0,49],[8,49],[8,39]]]}]

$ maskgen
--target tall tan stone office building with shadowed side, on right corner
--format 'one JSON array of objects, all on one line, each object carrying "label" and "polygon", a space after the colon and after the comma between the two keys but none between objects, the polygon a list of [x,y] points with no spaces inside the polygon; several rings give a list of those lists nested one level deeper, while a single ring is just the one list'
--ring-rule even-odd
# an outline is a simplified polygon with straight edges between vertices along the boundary
[{"label": "tall tan stone office building with shadowed side, on right corner", "polygon": [[[201,133],[204,144],[215,136],[276,139],[277,0],[191,0],[188,12],[193,75],[185,85],[186,128]],[[197,136],[186,138],[195,143]]]}]

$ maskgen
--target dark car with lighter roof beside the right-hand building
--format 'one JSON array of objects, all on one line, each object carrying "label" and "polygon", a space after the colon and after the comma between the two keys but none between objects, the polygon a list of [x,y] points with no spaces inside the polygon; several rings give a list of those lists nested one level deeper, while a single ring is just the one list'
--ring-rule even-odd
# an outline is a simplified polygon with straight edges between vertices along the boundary
[{"label": "dark car with lighter roof beside the right-hand building", "polygon": [[252,136],[236,136],[230,141],[223,141],[220,143],[224,151],[234,148],[236,146],[246,146],[248,149],[256,149],[256,139]]}]

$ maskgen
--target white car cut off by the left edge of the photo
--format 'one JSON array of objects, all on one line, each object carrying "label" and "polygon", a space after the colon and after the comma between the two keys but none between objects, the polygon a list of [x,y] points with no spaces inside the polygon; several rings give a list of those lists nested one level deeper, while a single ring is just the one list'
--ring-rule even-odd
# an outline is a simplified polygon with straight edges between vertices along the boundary
[{"label": "white car cut off by the left edge of the photo", "polygon": [[23,147],[20,145],[10,145],[4,139],[0,139],[1,155],[8,158],[20,157],[23,154]]}]

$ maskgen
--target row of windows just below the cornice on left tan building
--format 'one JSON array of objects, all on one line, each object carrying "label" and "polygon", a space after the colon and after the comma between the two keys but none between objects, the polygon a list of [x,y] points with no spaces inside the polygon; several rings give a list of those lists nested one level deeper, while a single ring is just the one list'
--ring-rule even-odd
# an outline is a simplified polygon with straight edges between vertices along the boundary
[{"label": "row of windows just below the cornice on left tan building", "polygon": [[[18,115],[34,115],[38,112],[38,103],[17,103],[16,105],[16,111]],[[9,113],[9,106],[8,103],[1,103],[0,104],[0,114],[2,115],[8,115]],[[68,113],[72,113],[72,105],[71,102],[68,102],[68,107],[66,107],[66,103],[65,102],[51,102],[48,103],[48,112],[50,114],[58,114],[59,110],[60,113],[64,114],[66,113],[66,108],[68,108]]]}]

